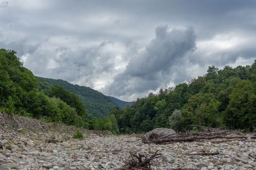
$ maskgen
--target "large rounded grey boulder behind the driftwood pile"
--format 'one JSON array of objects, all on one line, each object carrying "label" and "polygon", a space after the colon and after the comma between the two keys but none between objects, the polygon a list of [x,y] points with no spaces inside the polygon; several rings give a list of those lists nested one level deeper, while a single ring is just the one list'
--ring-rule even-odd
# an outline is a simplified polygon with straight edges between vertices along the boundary
[{"label": "large rounded grey boulder behind the driftwood pile", "polygon": [[147,132],[143,137],[142,137],[142,142],[143,143],[149,143],[149,140],[152,138],[159,138],[159,137],[166,137],[166,136],[171,136],[175,135],[176,132],[173,129],[168,129],[168,128],[156,128],[153,129],[152,131]]}]

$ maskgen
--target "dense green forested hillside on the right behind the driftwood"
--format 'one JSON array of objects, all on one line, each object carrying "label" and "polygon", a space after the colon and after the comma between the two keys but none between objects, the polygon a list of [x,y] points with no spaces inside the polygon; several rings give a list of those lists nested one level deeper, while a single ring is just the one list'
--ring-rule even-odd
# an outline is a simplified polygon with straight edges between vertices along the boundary
[{"label": "dense green forested hillside on the right behind the driftwood", "polygon": [[256,129],[256,61],[252,66],[209,67],[207,74],[112,112],[122,133],[190,125]]}]

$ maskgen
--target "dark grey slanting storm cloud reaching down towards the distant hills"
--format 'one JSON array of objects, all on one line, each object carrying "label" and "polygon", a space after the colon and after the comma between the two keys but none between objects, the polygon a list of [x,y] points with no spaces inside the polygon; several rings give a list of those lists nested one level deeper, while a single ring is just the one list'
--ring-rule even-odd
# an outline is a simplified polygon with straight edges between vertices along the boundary
[{"label": "dark grey slanting storm cloud reaching down towards the distant hills", "polygon": [[[192,28],[185,30],[158,26],[156,37],[137,56],[130,59],[125,71],[108,86],[109,93],[131,96],[166,86],[172,76],[172,66],[196,48],[196,35]],[[123,89],[124,88],[124,89]]]}]

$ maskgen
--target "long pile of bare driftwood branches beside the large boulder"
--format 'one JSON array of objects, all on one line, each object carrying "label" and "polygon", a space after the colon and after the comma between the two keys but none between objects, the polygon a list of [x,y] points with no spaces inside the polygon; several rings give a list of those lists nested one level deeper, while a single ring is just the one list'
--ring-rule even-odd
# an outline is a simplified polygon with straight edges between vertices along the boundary
[{"label": "long pile of bare driftwood branches beside the large boulder", "polygon": [[207,139],[222,139],[222,142],[226,142],[235,139],[245,140],[248,138],[256,138],[256,133],[243,134],[237,130],[207,128],[202,132],[175,133],[168,136],[153,133],[147,137],[147,140],[144,143],[167,144],[175,142],[193,142]]}]

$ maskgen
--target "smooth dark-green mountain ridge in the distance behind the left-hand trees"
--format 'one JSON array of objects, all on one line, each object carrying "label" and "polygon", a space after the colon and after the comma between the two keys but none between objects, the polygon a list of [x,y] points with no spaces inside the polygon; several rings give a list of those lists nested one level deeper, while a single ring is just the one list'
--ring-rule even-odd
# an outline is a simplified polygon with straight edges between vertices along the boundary
[{"label": "smooth dark-green mountain ridge in the distance behind the left-hand trees", "polygon": [[48,79],[48,78],[42,78],[42,77],[38,77],[38,78],[42,82],[46,82],[51,85],[61,85],[63,88],[78,94],[81,102],[83,102],[84,104],[84,107],[89,117],[91,118],[94,118],[94,117],[104,118],[108,116],[108,114],[113,108],[118,107],[118,104],[116,102],[113,102],[110,97],[105,96],[102,93],[90,87],[72,85],[67,81],[60,80],[60,79],[55,80],[55,79]]}]

